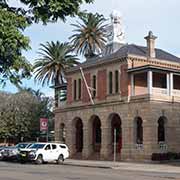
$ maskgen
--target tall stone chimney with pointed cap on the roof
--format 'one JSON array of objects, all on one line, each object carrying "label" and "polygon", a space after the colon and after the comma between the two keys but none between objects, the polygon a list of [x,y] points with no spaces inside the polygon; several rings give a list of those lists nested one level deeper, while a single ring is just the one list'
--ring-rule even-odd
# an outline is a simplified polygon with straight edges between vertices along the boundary
[{"label": "tall stone chimney with pointed cap on the roof", "polygon": [[148,36],[146,36],[144,39],[147,41],[147,57],[149,58],[155,58],[156,57],[156,51],[155,51],[155,39],[157,37],[153,35],[152,31],[149,31]]}]

